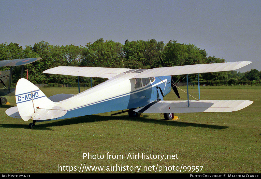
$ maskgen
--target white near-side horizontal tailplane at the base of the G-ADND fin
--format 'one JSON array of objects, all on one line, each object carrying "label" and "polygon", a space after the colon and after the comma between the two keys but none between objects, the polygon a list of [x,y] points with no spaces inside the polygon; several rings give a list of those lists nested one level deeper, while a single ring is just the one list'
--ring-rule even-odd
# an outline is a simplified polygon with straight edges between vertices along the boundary
[{"label": "white near-side horizontal tailplane at the base of the G-ADND fin", "polygon": [[48,120],[62,117],[67,113],[67,110],[60,106],[53,106],[51,109],[38,108],[32,116],[32,120]]}]

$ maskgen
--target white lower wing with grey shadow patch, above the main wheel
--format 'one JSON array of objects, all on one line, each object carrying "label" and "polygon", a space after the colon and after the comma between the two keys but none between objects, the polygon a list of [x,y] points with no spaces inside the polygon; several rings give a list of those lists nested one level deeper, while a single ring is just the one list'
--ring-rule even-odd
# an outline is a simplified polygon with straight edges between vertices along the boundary
[{"label": "white lower wing with grey shadow patch, above the main wheel", "polygon": [[187,113],[187,112],[233,112],[241,110],[253,101],[249,100],[194,100],[187,101],[154,101],[134,110],[139,113]]}]

